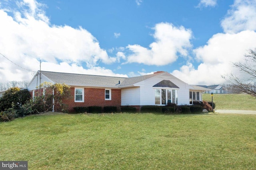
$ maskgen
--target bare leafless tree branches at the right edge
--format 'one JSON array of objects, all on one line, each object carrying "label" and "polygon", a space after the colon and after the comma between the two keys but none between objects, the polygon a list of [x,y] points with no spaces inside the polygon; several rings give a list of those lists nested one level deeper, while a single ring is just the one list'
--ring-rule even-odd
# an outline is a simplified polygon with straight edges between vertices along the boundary
[{"label": "bare leafless tree branches at the right edge", "polygon": [[256,97],[256,49],[248,50],[244,55],[244,62],[233,63],[244,75],[238,77],[234,74],[222,76],[234,92],[242,92]]}]

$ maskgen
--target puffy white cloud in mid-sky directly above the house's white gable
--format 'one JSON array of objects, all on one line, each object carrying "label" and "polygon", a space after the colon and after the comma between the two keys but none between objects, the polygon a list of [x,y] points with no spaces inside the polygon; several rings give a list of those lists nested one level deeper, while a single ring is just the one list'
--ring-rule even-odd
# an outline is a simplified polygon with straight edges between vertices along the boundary
[{"label": "puffy white cloud in mid-sky directly above the house's white gable", "polygon": [[158,23],[154,27],[155,42],[150,48],[140,45],[128,45],[126,48],[132,52],[127,56],[126,63],[143,63],[147,65],[166,65],[178,58],[178,53],[188,56],[188,49],[192,47],[190,39],[192,31],[183,26],[175,27],[171,23]]}]

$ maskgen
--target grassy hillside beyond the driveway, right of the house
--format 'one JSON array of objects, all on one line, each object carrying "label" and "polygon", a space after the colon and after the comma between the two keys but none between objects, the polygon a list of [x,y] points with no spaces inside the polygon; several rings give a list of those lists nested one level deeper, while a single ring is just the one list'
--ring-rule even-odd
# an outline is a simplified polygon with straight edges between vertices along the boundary
[{"label": "grassy hillside beyond the driveway, right of the house", "polygon": [[[203,100],[212,101],[211,94],[203,94]],[[215,109],[256,110],[256,98],[248,94],[214,94]]]}]

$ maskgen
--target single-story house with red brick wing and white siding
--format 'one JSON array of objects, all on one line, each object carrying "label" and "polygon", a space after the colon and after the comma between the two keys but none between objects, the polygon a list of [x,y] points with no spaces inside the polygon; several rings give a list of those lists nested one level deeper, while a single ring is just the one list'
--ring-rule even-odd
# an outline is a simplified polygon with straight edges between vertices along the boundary
[{"label": "single-story house with red brick wing and white siding", "polygon": [[133,106],[139,110],[141,106],[165,106],[168,102],[185,105],[190,104],[190,92],[196,93],[193,100],[202,100],[205,91],[163,71],[131,78],[47,71],[41,71],[40,75],[38,71],[28,85],[32,97],[37,94],[40,82],[69,85],[72,98],[63,101],[69,111],[76,106],[116,106],[118,110],[121,106]]}]

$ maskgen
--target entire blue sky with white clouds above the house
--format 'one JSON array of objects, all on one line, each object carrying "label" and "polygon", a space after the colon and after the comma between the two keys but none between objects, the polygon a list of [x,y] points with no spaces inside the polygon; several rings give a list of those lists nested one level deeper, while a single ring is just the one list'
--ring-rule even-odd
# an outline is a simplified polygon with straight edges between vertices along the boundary
[{"label": "entire blue sky with white clouds above the house", "polygon": [[222,84],[256,47],[256,0],[2,0],[0,22],[2,83],[29,82],[41,60],[45,71],[162,70],[188,84]]}]

